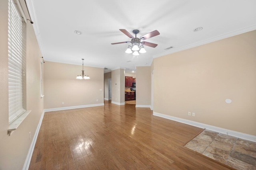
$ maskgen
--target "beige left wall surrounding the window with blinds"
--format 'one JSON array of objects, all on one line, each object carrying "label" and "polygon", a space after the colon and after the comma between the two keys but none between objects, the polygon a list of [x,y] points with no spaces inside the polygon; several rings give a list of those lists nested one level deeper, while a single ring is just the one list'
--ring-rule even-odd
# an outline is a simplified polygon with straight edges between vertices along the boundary
[{"label": "beige left wall surrounding the window with blinds", "polygon": [[[24,1],[21,3],[24,5]],[[26,107],[31,112],[18,129],[11,136],[8,136],[8,0],[0,1],[0,34],[0,169],[20,170],[24,166],[43,112],[44,98],[40,98],[40,57],[42,55],[32,24],[28,22],[26,33]],[[31,139],[29,139],[29,132],[31,132]]]}]

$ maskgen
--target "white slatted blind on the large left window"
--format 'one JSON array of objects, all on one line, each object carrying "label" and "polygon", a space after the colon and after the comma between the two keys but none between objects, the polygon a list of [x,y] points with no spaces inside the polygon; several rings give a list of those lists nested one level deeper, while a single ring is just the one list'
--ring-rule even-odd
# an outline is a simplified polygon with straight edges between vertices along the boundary
[{"label": "white slatted blind on the large left window", "polygon": [[24,19],[14,2],[9,0],[8,18],[8,80],[9,80],[9,123],[26,110],[23,107],[25,79]]}]

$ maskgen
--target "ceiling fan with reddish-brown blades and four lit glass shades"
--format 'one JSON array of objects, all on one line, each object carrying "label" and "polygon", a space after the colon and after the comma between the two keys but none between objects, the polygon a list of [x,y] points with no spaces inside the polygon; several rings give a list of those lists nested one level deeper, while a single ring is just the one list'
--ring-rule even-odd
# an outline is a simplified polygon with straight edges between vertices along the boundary
[{"label": "ceiling fan with reddish-brown blades and four lit glass shades", "polygon": [[151,37],[155,37],[156,35],[159,35],[160,33],[157,30],[147,33],[145,35],[142,35],[140,38],[137,38],[137,34],[140,32],[138,29],[134,29],[132,31],[132,33],[135,34],[135,37],[132,36],[132,34],[130,34],[126,29],[119,29],[119,30],[125,35],[127,35],[129,38],[131,38],[132,40],[119,42],[119,43],[111,43],[111,44],[114,45],[114,44],[122,44],[122,43],[132,43],[132,46],[129,45],[128,48],[126,49],[125,51],[126,53],[132,53],[133,55],[140,55],[138,52],[146,53],[146,50],[144,49],[144,45],[148,47],[153,47],[153,48],[157,46],[157,44],[144,41],[145,39],[149,39]]}]

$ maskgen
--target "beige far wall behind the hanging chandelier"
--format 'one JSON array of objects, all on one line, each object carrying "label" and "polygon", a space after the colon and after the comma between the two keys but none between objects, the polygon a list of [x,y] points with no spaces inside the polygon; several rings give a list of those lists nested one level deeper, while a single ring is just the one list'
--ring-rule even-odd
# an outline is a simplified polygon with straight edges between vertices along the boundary
[{"label": "beige far wall behind the hanging chandelier", "polygon": [[103,68],[84,66],[89,80],[76,79],[81,70],[82,65],[45,62],[44,109],[104,103]]}]

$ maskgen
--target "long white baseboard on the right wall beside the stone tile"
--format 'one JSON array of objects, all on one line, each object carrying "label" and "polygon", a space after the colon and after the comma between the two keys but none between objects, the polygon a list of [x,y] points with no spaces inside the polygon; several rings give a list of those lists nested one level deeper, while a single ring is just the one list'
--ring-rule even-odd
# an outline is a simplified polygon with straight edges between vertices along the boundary
[{"label": "long white baseboard on the right wall beside the stone tile", "polygon": [[248,134],[245,134],[245,133],[240,133],[240,132],[236,132],[236,131],[232,131],[232,130],[228,130],[228,129],[223,129],[223,128],[212,126],[212,125],[206,125],[204,123],[199,123],[199,122],[196,122],[196,121],[181,119],[179,117],[164,115],[162,113],[153,112],[153,115],[158,116],[158,117],[163,117],[163,118],[166,118],[166,119],[170,119],[170,120],[174,120],[174,121],[178,121],[178,122],[185,123],[185,124],[188,124],[188,125],[201,127],[201,128],[204,128],[204,129],[209,129],[211,131],[216,131],[216,132],[219,132],[219,133],[227,134],[227,135],[238,137],[238,138],[241,138],[241,139],[246,139],[248,141],[256,142],[256,136],[253,136],[253,135],[248,135]]}]

